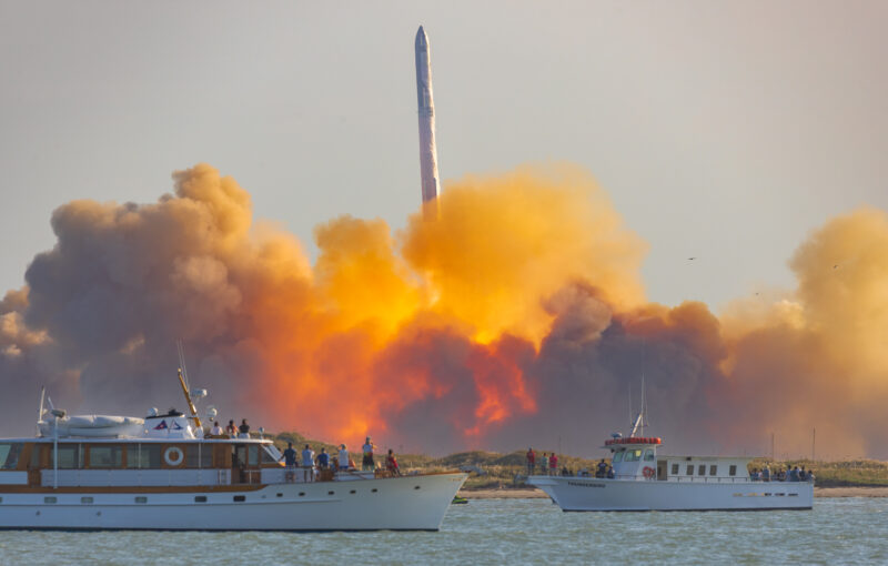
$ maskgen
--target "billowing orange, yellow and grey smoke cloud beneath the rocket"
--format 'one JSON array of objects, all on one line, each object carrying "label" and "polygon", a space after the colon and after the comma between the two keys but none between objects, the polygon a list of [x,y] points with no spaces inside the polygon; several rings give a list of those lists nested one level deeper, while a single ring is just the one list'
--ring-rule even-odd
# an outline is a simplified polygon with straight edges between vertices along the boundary
[{"label": "billowing orange, yellow and grey smoke cloud beneath the rocket", "polygon": [[75,201],[56,247],[0,302],[0,410],[27,432],[46,384],[69,410],[181,406],[175,340],[224,418],[331,442],[366,433],[443,453],[533,444],[591,453],[625,429],[644,375],[675,451],[888,455],[888,215],[814,233],[798,287],[645,301],[646,245],[571,165],[466,178],[441,220],[341,216],[300,244],[253,222],[209,165],[154,204]]}]

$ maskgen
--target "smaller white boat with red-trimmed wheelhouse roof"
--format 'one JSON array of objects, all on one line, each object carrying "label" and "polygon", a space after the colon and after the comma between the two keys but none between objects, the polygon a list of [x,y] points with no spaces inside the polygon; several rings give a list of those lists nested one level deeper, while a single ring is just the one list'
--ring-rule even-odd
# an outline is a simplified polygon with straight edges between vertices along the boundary
[{"label": "smaller white boat with red-trimmed wheelhouse roof", "polygon": [[604,443],[612,453],[610,477],[531,476],[562,511],[766,511],[810,509],[813,482],[754,481],[750,457],[666,456],[659,437]]}]

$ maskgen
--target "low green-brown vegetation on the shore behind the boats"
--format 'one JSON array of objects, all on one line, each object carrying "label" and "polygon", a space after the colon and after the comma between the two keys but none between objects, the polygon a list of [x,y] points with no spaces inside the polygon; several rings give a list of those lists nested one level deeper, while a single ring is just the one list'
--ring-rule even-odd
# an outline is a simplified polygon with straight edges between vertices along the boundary
[{"label": "low green-brown vegetation on the shore behind the boats", "polygon": [[[283,451],[287,442],[292,442],[297,448],[306,443],[315,452],[321,447],[335,454],[337,446],[325,444],[317,441],[305,438],[303,435],[290,432],[271,435],[279,448]],[[361,446],[349,447],[352,457],[361,463]],[[539,457],[543,453],[551,451],[537,451],[536,471],[541,471]],[[471,474],[465,483],[466,489],[490,489],[490,488],[513,488],[524,487],[524,479],[527,473],[525,464],[525,452],[516,451],[508,454],[497,452],[460,452],[448,456],[435,458],[423,454],[398,454],[397,462],[402,472],[420,469],[423,472],[435,472],[444,469],[466,469]],[[377,458],[379,462],[380,458]],[[607,461],[609,464],[609,459]],[[566,466],[572,473],[586,468],[595,473],[597,459],[578,458],[565,454],[558,454],[558,468]],[[771,461],[769,458],[756,458],[749,463],[749,469],[761,469],[767,464],[771,472],[786,469],[786,466],[805,466],[805,469],[814,469],[819,487],[880,487],[888,486],[888,462],[876,459],[855,459],[848,462],[811,462],[809,459],[788,459]]]}]

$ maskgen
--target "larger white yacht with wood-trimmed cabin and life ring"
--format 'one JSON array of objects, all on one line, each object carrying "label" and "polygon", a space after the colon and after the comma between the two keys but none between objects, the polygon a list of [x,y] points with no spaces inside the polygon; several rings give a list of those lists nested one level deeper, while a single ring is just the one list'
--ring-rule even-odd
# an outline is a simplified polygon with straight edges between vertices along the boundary
[{"label": "larger white yacht with wood-trimmed cabin and life ring", "polygon": [[204,435],[181,383],[190,416],[53,410],[39,436],[0,439],[0,528],[437,530],[466,479],[287,474],[270,439]]}]

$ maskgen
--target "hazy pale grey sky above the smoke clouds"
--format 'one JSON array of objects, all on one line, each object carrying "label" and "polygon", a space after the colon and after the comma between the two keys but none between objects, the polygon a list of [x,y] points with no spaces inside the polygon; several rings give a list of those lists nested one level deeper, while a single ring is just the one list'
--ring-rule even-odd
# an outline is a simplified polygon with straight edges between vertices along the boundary
[{"label": "hazy pale grey sky above the smoke clouds", "polygon": [[444,190],[573,161],[649,242],[649,299],[790,286],[811,229],[888,209],[886,21],[880,1],[0,0],[0,290],[59,204],[153,202],[196,162],[310,253],[339,214],[401,228],[420,24]]}]

